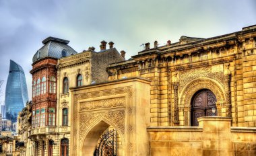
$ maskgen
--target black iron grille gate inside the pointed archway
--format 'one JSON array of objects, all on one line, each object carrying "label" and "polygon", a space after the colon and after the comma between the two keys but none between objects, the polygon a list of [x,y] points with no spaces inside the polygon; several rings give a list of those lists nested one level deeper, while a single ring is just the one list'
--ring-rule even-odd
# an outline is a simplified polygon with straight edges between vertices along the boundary
[{"label": "black iron grille gate inside the pointed archway", "polygon": [[117,156],[117,130],[110,130],[100,137],[94,156]]}]

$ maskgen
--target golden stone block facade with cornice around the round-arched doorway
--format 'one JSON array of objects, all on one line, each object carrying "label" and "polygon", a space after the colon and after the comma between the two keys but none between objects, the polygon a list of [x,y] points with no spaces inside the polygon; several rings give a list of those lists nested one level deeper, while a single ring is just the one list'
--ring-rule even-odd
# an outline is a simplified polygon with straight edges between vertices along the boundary
[{"label": "golden stone block facade with cornice around the round-arched doorway", "polygon": [[206,39],[182,36],[154,48],[148,44],[132,61],[110,65],[109,80],[152,80],[152,126],[190,126],[191,100],[201,89],[214,93],[217,115],[232,117],[232,126],[255,126],[255,29]]}]

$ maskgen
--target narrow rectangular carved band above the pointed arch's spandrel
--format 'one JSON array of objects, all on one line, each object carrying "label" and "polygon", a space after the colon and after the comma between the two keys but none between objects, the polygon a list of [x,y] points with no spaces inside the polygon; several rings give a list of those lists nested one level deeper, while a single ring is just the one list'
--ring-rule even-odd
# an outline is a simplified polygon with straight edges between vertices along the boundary
[{"label": "narrow rectangular carved band above the pointed arch's spandrel", "polygon": [[80,110],[94,110],[102,108],[117,108],[125,106],[125,97],[118,97],[113,99],[98,100],[92,102],[81,102]]}]

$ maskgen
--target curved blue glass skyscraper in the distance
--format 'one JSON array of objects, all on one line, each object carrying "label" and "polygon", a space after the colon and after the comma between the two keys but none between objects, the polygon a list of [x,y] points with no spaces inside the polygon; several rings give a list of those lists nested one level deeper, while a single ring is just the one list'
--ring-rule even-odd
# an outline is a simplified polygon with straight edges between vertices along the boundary
[{"label": "curved blue glass skyscraper in the distance", "polygon": [[17,116],[28,102],[28,89],[24,71],[20,65],[10,61],[9,75],[5,89],[5,118],[17,121]]}]

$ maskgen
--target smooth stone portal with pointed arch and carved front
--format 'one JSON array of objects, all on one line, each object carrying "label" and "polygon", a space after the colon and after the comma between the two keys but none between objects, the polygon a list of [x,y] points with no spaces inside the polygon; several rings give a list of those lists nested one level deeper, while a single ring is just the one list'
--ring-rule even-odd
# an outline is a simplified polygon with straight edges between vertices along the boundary
[{"label": "smooth stone portal with pointed arch and carved front", "polygon": [[[140,97],[140,98],[135,98]],[[71,88],[71,155],[149,155],[150,81],[141,78]],[[117,132],[116,153],[111,130]],[[110,132],[108,132],[110,131]]]}]

